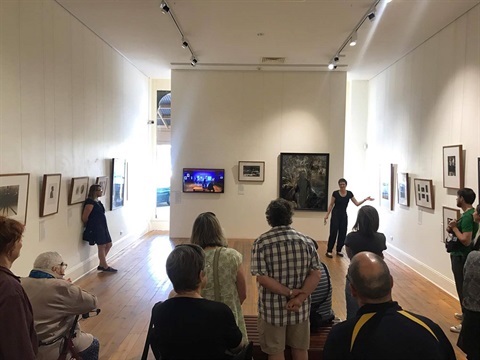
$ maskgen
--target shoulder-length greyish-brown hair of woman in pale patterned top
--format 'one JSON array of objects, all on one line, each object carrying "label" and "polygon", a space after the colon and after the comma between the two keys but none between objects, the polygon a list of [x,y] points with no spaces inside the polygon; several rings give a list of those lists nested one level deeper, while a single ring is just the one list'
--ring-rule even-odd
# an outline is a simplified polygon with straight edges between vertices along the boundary
[{"label": "shoulder-length greyish-brown hair of woman in pale patterned top", "polygon": [[202,249],[207,246],[227,246],[220,221],[214,213],[205,212],[197,216],[193,223],[190,242],[199,245]]}]

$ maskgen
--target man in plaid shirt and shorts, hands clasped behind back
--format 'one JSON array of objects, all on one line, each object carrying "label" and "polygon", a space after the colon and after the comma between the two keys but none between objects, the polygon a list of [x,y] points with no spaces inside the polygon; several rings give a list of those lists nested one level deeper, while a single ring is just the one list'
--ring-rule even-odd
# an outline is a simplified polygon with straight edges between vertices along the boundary
[{"label": "man in plaid shirt and shorts, hands clasped behind back", "polygon": [[273,200],[265,215],[272,228],[253,243],[251,265],[258,284],[260,346],[269,360],[284,359],[285,345],[294,360],[307,360],[310,294],[321,274],[314,240],[290,226],[288,201]]}]

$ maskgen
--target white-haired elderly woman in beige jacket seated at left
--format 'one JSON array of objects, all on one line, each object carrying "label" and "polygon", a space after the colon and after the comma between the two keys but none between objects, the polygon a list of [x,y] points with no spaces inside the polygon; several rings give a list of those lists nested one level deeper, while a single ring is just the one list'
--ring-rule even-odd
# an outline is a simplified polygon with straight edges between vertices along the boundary
[{"label": "white-haired elderly woman in beige jacket seated at left", "polygon": [[[33,308],[35,330],[40,341],[39,360],[58,359],[62,336],[68,334],[75,316],[97,307],[95,295],[72,284],[70,279],[64,279],[66,267],[59,253],[45,252],[35,259],[29,277],[21,279]],[[60,340],[49,344],[55,339]],[[78,324],[73,344],[83,360],[98,359],[98,340],[81,331]]]}]

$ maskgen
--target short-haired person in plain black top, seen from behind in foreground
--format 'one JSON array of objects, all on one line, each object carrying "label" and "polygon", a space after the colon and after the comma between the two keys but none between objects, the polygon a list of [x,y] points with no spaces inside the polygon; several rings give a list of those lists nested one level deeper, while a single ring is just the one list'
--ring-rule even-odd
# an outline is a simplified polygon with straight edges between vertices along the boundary
[{"label": "short-haired person in plain black top, seen from behind in foreground", "polygon": [[242,333],[224,303],[203,299],[205,253],[198,245],[178,245],[167,258],[174,296],[155,307],[150,343],[162,360],[225,359]]}]

